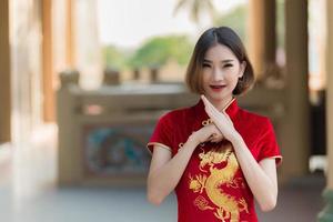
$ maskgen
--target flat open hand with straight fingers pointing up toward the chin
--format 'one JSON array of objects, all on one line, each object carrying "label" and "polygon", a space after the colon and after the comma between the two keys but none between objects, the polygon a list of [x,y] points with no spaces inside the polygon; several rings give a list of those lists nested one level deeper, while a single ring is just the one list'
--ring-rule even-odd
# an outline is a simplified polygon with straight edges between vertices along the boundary
[{"label": "flat open hand with straight fingers pointing up toward the chin", "polygon": [[239,133],[234,129],[229,115],[225,112],[220,112],[204,95],[201,95],[201,99],[204,103],[205,112],[223,134],[223,137],[229,141],[233,141]]}]

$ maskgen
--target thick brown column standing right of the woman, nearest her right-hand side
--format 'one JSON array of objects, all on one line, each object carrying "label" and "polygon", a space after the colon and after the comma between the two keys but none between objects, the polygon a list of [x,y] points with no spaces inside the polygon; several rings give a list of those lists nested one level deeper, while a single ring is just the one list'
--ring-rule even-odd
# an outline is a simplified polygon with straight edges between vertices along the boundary
[{"label": "thick brown column standing right of the woman, nearest her right-hand side", "polygon": [[310,104],[307,1],[285,0],[286,115],[281,123],[284,179],[307,173]]}]

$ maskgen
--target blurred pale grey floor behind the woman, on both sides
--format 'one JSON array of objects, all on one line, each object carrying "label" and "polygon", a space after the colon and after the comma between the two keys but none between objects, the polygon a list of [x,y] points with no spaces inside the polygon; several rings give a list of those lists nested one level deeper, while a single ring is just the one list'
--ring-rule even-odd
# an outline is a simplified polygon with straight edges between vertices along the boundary
[{"label": "blurred pale grey floor behind the woman, on both sides", "polygon": [[[30,143],[10,148],[7,159],[0,152],[1,222],[176,221],[174,195],[157,208],[145,201],[144,188],[58,189],[54,127],[42,132]],[[323,209],[324,185],[323,175],[312,174],[280,188],[276,209],[259,213],[260,221],[314,222]]]}]

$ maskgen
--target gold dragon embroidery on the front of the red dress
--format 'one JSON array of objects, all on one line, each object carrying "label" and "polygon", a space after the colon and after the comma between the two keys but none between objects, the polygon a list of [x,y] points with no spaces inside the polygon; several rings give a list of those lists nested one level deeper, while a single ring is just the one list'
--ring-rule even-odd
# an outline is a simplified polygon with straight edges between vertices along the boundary
[{"label": "gold dragon embroidery on the front of the red dress", "polygon": [[[244,188],[243,180],[234,179],[236,171],[239,170],[239,163],[233,152],[231,143],[222,145],[218,149],[212,149],[208,152],[202,151],[199,154],[201,172],[208,172],[204,168],[209,167],[210,175],[199,174],[190,175],[189,188],[194,193],[202,193],[205,191],[210,201],[214,204],[214,208],[209,206],[209,202],[199,195],[194,200],[194,205],[200,210],[213,210],[214,215],[222,222],[229,220],[230,222],[240,221],[240,212],[245,211],[249,213],[246,201],[242,198],[236,200],[235,196],[223,193],[220,188],[222,184],[226,188]],[[218,163],[226,163],[223,169],[218,169],[214,165]]]}]

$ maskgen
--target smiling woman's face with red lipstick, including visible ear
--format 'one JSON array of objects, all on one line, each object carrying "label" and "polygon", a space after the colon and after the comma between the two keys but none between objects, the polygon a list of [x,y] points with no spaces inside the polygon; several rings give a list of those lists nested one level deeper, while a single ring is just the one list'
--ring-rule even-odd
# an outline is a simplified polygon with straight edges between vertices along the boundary
[{"label": "smiling woman's face with red lipstick, including visible ear", "polygon": [[235,54],[223,44],[211,47],[202,63],[204,95],[215,102],[229,101],[232,91],[243,75],[245,62],[240,63]]}]

